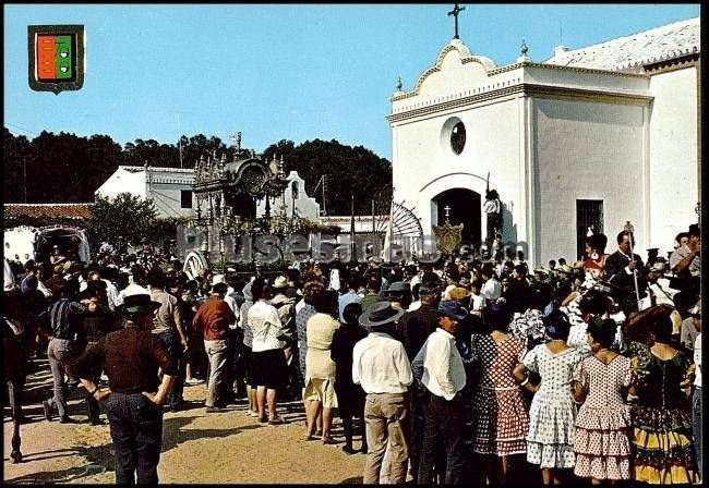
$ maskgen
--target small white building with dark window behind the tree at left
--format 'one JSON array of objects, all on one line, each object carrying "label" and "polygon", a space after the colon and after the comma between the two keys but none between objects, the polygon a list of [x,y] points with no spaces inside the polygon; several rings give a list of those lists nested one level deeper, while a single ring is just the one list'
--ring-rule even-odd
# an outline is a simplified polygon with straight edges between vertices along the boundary
[{"label": "small white building with dark window behind the tree at left", "polygon": [[194,169],[119,166],[96,195],[115,198],[130,193],[149,198],[158,217],[192,217]]}]

